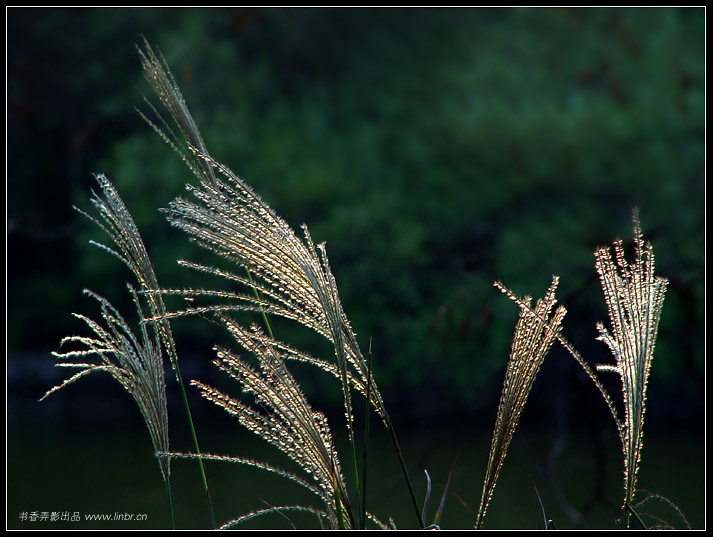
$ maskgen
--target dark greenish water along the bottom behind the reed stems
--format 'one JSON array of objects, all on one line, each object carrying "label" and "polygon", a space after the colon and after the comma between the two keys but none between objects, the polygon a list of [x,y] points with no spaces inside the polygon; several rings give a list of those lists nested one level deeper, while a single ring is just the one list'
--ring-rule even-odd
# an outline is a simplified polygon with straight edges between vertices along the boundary
[{"label": "dark greenish water along the bottom behind the reed stems", "polygon": [[[125,402],[125,401],[124,401]],[[34,404],[34,403],[33,403]],[[100,409],[99,409],[100,410]],[[159,529],[170,527],[166,491],[140,419],[116,419],[109,425],[88,419],[22,421],[13,412],[7,431],[7,526],[10,529]],[[28,423],[29,421],[29,423]],[[174,424],[175,428],[183,426]],[[243,455],[293,469],[286,457],[232,421],[198,422],[202,449]],[[369,451],[367,505],[380,520],[398,528],[416,525],[413,504],[388,438],[374,423]],[[427,518],[433,519],[452,467],[450,491],[441,517],[444,529],[467,529],[478,508],[490,432],[474,433],[467,423],[432,430],[402,430],[400,440],[419,502],[432,481]],[[173,449],[187,451],[184,436]],[[345,446],[343,446],[345,447]],[[343,473],[353,482],[347,450],[340,450]],[[298,503],[318,507],[297,485],[256,469],[222,462],[207,463],[208,479],[219,523],[253,509]],[[546,517],[557,528],[614,529],[621,497],[618,440],[605,432],[600,441],[570,432],[553,436],[518,430],[486,517],[486,528],[539,529]],[[197,465],[172,465],[176,527],[209,528],[207,503]],[[639,488],[675,503],[693,528],[705,527],[705,448],[703,438],[655,434],[646,438]],[[537,492],[536,492],[537,491]],[[541,503],[538,500],[538,494]],[[660,499],[640,507],[647,524],[653,516],[685,527]],[[105,515],[111,520],[87,520]],[[58,520],[52,520],[57,518]],[[73,520],[78,518],[78,520]],[[299,529],[318,527],[311,515],[270,514],[243,528]]]}]

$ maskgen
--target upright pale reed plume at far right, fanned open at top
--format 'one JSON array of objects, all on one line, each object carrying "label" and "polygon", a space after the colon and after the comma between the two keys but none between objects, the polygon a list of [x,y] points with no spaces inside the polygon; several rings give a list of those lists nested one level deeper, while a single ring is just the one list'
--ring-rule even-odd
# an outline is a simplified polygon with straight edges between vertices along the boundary
[{"label": "upright pale reed plume at far right, fanned open at top", "polygon": [[644,243],[638,213],[634,211],[635,260],[625,259],[622,241],[613,252],[595,252],[596,268],[609,310],[611,332],[599,323],[599,337],[614,355],[614,365],[599,365],[599,371],[613,371],[621,377],[624,421],[619,422],[624,454],[624,505],[622,522],[628,525],[629,510],[636,493],[636,474],[641,460],[646,385],[654,354],[661,308],[667,280],[654,275],[654,254]]}]

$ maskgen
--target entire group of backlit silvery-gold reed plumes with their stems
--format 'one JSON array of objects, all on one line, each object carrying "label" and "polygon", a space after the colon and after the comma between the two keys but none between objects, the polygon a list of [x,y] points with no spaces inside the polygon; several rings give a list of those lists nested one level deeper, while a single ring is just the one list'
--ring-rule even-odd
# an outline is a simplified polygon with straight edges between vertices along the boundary
[{"label": "entire group of backlit silvery-gold reed plumes with their stems", "polygon": [[[191,199],[171,202],[165,209],[166,217],[199,245],[231,262],[236,270],[189,261],[179,263],[218,276],[231,285],[238,284],[244,291],[160,287],[128,210],[109,180],[104,176],[97,177],[103,195],[95,195],[93,202],[103,222],[90,218],[109,234],[116,245],[116,249],[102,247],[125,263],[138,282],[137,290],[129,287],[139,316],[138,332],[132,330],[111,304],[88,292],[100,302],[105,326],[78,315],[92,329],[95,337],[73,336],[63,340],[63,344],[73,342],[82,347],[56,353],[61,360],[58,365],[80,371],[50,390],[45,397],[91,371],[108,371],[131,393],[141,409],[166,482],[169,503],[171,460],[198,460],[214,527],[217,524],[212,515],[204,460],[230,461],[262,468],[298,483],[320,500],[319,507],[286,505],[252,511],[221,527],[232,527],[270,512],[300,510],[314,513],[323,527],[359,529],[366,528],[370,522],[372,526],[385,528],[367,511],[366,506],[366,445],[364,463],[360,467],[353,409],[353,396],[360,394],[366,408],[364,437],[368,436],[369,414],[374,411],[390,434],[418,524],[423,528],[425,515],[418,509],[393,424],[372,378],[370,359],[365,358],[361,351],[339,299],[325,246],[313,243],[306,226],[302,228],[302,237],[299,237],[245,182],[209,155],[165,61],[154,53],[148,43],[139,53],[145,77],[170,119],[164,118],[150,102],[154,119],[142,116],[179,153],[198,179],[197,184],[188,187]],[[615,371],[621,376],[623,419],[619,417],[595,371],[562,336],[566,309],[561,305],[555,309],[558,278],[553,278],[550,288],[534,307],[529,297],[518,298],[502,284],[495,284],[518,305],[520,315],[506,368],[476,527],[483,526],[498,474],[535,377],[556,341],[582,365],[616,420],[624,453],[622,524],[628,526],[629,513],[634,512],[632,502],[641,456],[646,381],[666,287],[666,280],[654,275],[651,246],[644,244],[636,214],[634,222],[636,259],[632,264],[624,259],[620,241],[614,245],[613,257],[607,249],[595,253],[596,268],[612,323],[611,332],[602,325],[598,326],[599,339],[609,346],[615,359],[615,364],[599,366],[598,369]],[[189,298],[192,305],[180,311],[168,311],[163,297],[171,294]],[[148,314],[144,313],[144,308],[148,309]],[[233,314],[244,311],[261,315],[262,327],[257,324],[241,325]],[[191,384],[203,397],[235,416],[246,429],[287,454],[304,475],[286,472],[261,461],[201,452],[171,333],[173,318],[191,315],[210,317],[222,325],[239,347],[253,357],[245,358],[233,349],[215,348],[215,365],[236,381],[247,402],[200,380],[193,380]],[[333,356],[330,359],[309,356],[278,340],[272,329],[271,316],[296,321],[321,335],[331,344]],[[87,360],[90,356],[94,357],[93,361]],[[195,453],[175,453],[170,449],[164,356],[168,358],[181,387]],[[351,486],[335,449],[332,429],[325,416],[312,408],[290,372],[292,361],[311,364],[331,373],[341,386],[351,448],[348,463],[353,471]]]}]

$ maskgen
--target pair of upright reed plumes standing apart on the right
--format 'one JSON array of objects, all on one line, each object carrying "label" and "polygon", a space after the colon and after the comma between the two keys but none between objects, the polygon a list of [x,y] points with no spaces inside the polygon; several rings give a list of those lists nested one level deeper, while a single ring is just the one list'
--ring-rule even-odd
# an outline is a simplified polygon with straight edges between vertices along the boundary
[{"label": "pair of upright reed plumes standing apart on the right", "polygon": [[[506,293],[520,308],[520,318],[515,327],[512,352],[508,361],[500,406],[493,431],[493,439],[486,469],[485,482],[477,527],[482,527],[488,502],[495,488],[500,466],[524,408],[535,374],[544,355],[555,340],[577,360],[599,389],[617,426],[624,454],[624,500],[621,525],[629,527],[636,493],[636,474],[641,461],[643,445],[644,412],[646,410],[646,385],[653,358],[661,308],[667,280],[654,275],[654,255],[651,244],[645,243],[641,233],[638,211],[633,213],[635,259],[628,263],[623,243],[616,240],[612,252],[607,248],[595,251],[596,270],[601,281],[604,299],[612,323],[610,333],[602,323],[597,324],[597,339],[607,344],[615,364],[598,365],[598,371],[616,372],[621,377],[624,417],[617,412],[603,384],[577,352],[560,333],[560,324],[566,313],[560,306],[549,317],[555,303],[554,291],[557,277],[545,297],[530,308],[530,299],[519,299],[502,284],[496,286]],[[643,522],[637,517],[640,525]]]}]

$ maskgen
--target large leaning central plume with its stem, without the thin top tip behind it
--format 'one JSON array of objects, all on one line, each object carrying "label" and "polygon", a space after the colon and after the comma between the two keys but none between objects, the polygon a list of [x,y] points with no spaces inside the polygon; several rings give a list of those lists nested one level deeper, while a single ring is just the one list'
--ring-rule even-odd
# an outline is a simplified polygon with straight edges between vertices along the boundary
[{"label": "large leaning central plume with its stem, without the thin top tip behind it", "polygon": [[[342,309],[325,247],[323,244],[315,247],[304,226],[305,242],[300,241],[292,229],[272,209],[264,205],[235,174],[206,155],[202,155],[202,158],[211,162],[227,182],[223,183],[217,179],[217,187],[205,182],[201,184],[200,190],[190,187],[189,190],[202,203],[194,204],[180,199],[174,201],[167,211],[169,221],[191,234],[194,240],[205,248],[245,266],[255,275],[251,285],[263,298],[224,294],[221,295],[223,298],[233,298],[235,302],[190,308],[174,315],[230,310],[260,311],[295,320],[327,338],[335,351],[336,370],[342,385],[347,429],[358,483],[350,384],[365,394],[368,365]],[[190,266],[215,275],[227,275],[225,271],[204,265]],[[242,280],[234,274],[231,274],[229,279]],[[184,290],[182,293],[186,296],[212,294],[195,290]],[[419,525],[423,527],[393,424],[386,412],[381,393],[373,381],[370,393],[371,404],[389,431]]]}]

